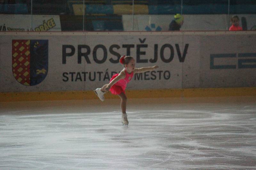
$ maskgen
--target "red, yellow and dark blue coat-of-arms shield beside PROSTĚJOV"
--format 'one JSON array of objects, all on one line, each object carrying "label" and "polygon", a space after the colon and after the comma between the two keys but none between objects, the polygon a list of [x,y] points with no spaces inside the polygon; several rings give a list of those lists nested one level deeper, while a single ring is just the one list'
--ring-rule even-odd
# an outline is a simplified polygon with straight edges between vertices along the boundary
[{"label": "red, yellow and dark blue coat-of-arms shield beside PROST\u011aJOV", "polygon": [[48,72],[48,40],[12,40],[12,73],[22,85],[41,83]]}]

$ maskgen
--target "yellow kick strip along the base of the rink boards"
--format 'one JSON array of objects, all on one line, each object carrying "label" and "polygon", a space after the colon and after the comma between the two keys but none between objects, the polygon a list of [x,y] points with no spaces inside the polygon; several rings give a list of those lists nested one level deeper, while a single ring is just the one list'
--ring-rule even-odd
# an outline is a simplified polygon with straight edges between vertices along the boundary
[{"label": "yellow kick strip along the base of the rink boards", "polygon": [[[234,97],[256,96],[256,87],[238,88],[189,88],[162,90],[127,90],[127,98],[190,98],[190,97]],[[119,98],[107,93],[105,99]],[[44,100],[90,100],[98,99],[92,91],[70,92],[0,92],[0,102],[44,101]]]}]

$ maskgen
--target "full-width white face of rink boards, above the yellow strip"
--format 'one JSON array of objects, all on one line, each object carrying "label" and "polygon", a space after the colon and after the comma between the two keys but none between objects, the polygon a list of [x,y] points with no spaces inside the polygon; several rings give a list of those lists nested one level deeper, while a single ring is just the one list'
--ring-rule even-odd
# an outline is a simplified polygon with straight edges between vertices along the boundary
[{"label": "full-width white face of rink boards, above the yellow strip", "polygon": [[[115,63],[121,55],[134,56],[136,67],[159,66],[154,72],[135,75],[128,84],[130,90],[256,86],[256,56],[243,57],[250,59],[253,68],[239,69],[237,63],[238,54],[255,53],[256,33],[250,31],[5,32],[0,35],[0,71],[4,80],[0,83],[1,92],[88,91],[108,83],[112,73],[123,69],[120,63]],[[14,78],[12,40],[48,40],[48,70],[41,83],[26,86]],[[72,52],[69,47],[74,54],[65,56]],[[81,63],[79,47],[80,53],[86,56],[80,55]],[[226,53],[237,56],[232,61],[214,58],[213,65],[229,64],[236,68],[211,69],[211,55]]]}]

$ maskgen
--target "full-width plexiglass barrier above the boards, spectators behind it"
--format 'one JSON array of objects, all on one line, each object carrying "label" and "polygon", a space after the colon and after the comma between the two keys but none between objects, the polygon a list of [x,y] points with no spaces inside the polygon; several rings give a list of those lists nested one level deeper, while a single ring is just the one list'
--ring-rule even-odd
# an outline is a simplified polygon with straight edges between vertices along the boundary
[{"label": "full-width plexiglass barrier above the boards, spectators behind it", "polygon": [[0,0],[0,31],[229,29],[256,30],[255,0]]}]

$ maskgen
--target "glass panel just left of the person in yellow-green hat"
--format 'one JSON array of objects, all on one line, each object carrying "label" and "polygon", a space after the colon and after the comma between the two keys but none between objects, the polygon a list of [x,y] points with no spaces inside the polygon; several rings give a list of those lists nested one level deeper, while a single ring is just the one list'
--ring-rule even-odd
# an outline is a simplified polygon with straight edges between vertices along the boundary
[{"label": "glass panel just left of the person in yellow-green hat", "polygon": [[168,31],[176,13],[181,13],[181,0],[134,1],[134,31]]}]

